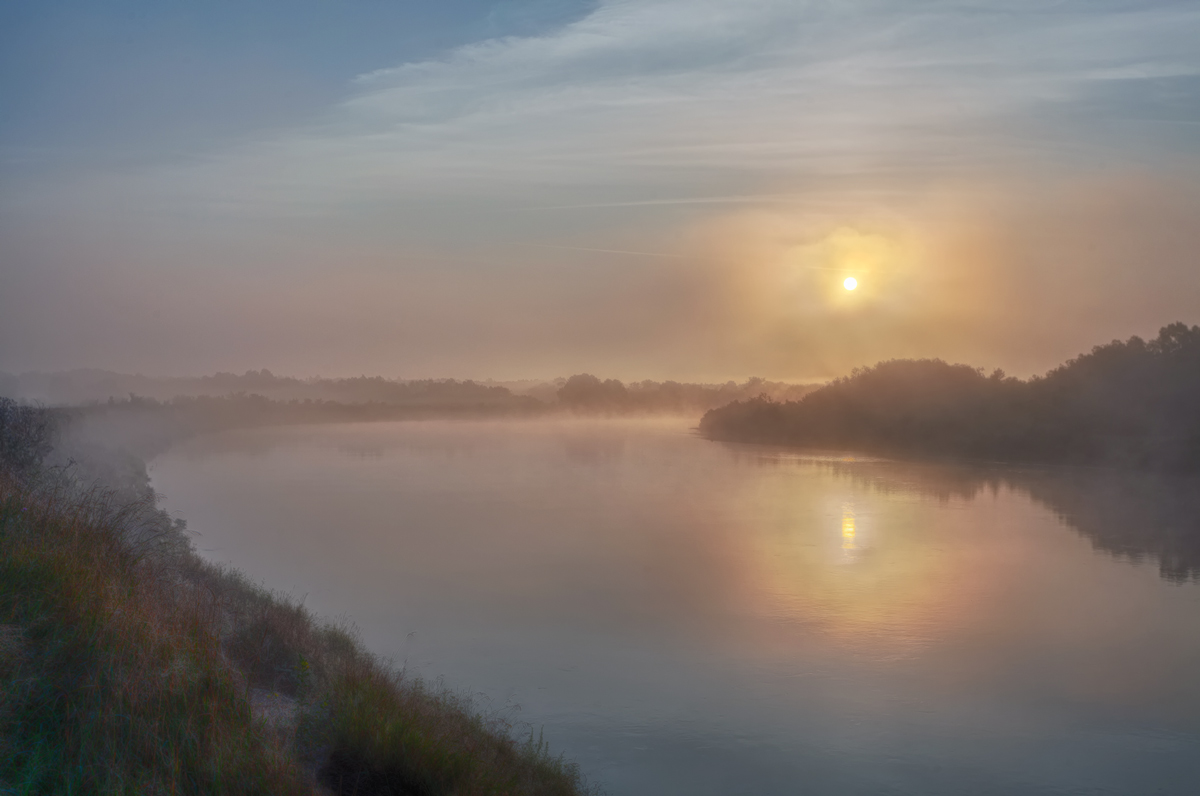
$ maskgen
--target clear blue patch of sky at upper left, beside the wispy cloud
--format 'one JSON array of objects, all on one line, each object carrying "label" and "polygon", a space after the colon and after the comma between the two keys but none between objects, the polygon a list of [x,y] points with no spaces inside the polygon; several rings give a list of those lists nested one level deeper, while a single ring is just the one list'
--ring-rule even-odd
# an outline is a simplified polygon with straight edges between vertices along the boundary
[{"label": "clear blue patch of sky at upper left, beside the wispy cloud", "polygon": [[37,166],[169,157],[299,125],[354,77],[589,4],[47,0],[0,7],[0,144]]}]

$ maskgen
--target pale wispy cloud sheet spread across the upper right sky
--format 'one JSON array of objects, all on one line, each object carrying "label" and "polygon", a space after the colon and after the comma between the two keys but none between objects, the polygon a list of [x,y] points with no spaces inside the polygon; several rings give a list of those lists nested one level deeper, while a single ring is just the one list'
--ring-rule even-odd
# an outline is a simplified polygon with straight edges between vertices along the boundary
[{"label": "pale wispy cloud sheet spread across the upper right sky", "polygon": [[1109,86],[1200,98],[1196,35],[1180,2],[611,0],[365,74],[323,124],[162,178],[239,211],[514,191],[616,207],[1070,163],[1120,149],[1097,122],[1154,121]]}]

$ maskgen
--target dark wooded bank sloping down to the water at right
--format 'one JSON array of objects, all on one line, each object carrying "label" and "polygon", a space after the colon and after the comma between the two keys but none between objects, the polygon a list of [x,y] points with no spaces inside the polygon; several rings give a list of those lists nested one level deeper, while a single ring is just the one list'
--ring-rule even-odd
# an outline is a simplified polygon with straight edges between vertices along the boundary
[{"label": "dark wooded bank sloping down to the water at right", "polygon": [[858,369],[798,401],[708,412],[714,439],[890,455],[1200,469],[1200,327],[1097,346],[1028,381],[937,359]]}]

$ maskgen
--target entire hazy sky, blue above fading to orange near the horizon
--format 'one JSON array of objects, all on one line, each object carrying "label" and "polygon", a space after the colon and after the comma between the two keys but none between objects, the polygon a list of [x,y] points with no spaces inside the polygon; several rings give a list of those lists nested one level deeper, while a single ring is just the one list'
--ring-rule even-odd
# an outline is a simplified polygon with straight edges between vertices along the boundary
[{"label": "entire hazy sky, blue above fading to orange near the horizon", "polygon": [[0,370],[1044,372],[1200,323],[1198,41],[1195,0],[4,4]]}]

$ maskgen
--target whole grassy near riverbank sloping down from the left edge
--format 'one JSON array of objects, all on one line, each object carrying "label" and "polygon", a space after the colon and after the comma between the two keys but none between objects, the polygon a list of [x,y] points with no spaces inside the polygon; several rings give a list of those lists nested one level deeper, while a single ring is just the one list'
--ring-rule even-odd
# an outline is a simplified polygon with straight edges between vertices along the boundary
[{"label": "whole grassy near riverbank sloping down from the left edge", "polygon": [[583,792],[540,741],[198,558],[152,497],[0,465],[0,790]]}]

